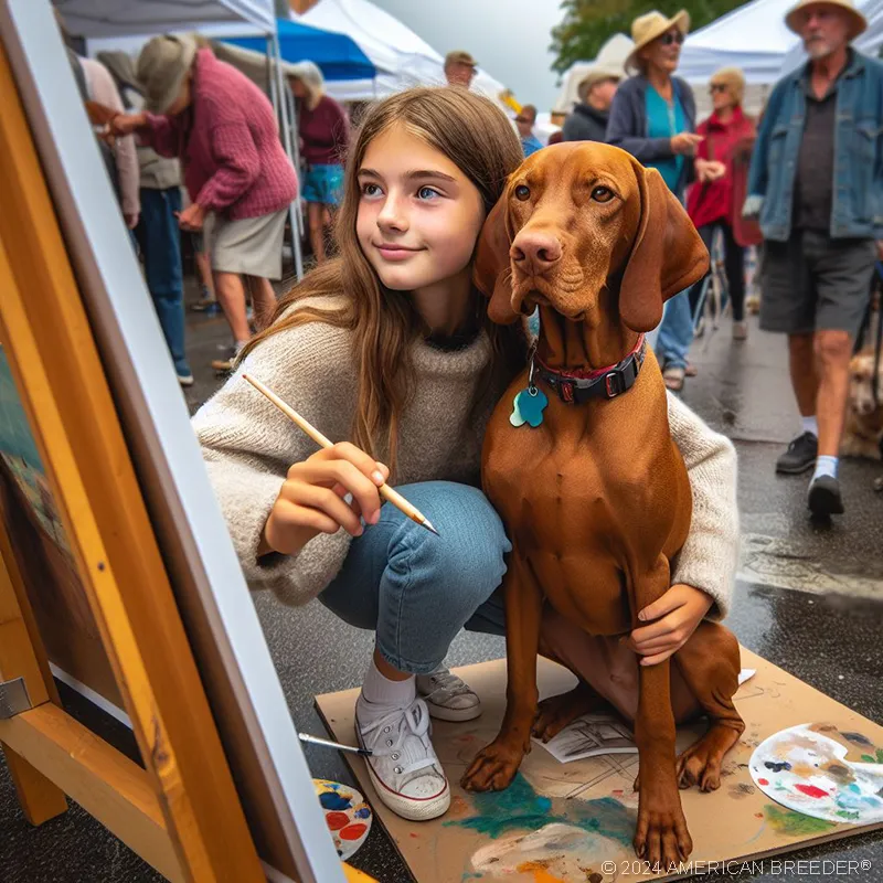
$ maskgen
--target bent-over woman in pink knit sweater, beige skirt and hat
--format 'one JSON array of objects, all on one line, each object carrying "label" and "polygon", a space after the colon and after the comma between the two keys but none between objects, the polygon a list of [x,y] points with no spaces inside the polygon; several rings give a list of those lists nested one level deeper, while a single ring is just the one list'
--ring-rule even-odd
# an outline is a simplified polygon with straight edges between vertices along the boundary
[{"label": "bent-over woman in pink knit sweater, beige skirt and hat", "polygon": [[[276,307],[269,279],[281,277],[281,245],[297,177],[279,141],[267,97],[244,74],[196,49],[185,36],[157,36],[141,51],[138,78],[149,111],[118,116],[117,135],[181,160],[191,205],[183,230],[201,231],[213,216],[212,269],[217,299],[235,350],[251,337],[245,313],[248,285],[258,326]],[[230,368],[231,360],[213,362]]]}]

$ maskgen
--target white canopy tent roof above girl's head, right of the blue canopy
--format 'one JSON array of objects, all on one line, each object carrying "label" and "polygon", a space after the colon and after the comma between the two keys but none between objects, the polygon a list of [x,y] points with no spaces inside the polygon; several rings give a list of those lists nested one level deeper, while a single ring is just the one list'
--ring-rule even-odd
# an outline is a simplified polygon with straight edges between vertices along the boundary
[{"label": "white canopy tent roof above girl's head, right of the blue canopy", "polygon": [[[377,68],[370,94],[364,88],[353,94],[342,94],[341,89],[347,84],[341,83],[337,84],[333,93],[339,98],[370,100],[409,86],[445,82],[443,56],[398,19],[370,0],[320,0],[302,15],[292,13],[292,18],[313,28],[347,34]],[[502,83],[481,68],[472,87],[498,103],[504,88]]]}]

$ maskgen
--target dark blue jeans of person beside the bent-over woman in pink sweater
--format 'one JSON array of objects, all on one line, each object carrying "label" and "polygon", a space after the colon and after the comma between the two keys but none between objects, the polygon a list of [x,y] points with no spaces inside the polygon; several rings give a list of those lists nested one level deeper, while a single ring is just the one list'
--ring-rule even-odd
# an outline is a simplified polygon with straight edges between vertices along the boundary
[{"label": "dark blue jeans of person beside the bent-over woman in pink sweater", "polygon": [[190,374],[184,352],[184,276],[175,212],[181,211],[181,191],[141,188],[138,242],[145,257],[147,287],[166,336],[166,343],[181,376]]}]

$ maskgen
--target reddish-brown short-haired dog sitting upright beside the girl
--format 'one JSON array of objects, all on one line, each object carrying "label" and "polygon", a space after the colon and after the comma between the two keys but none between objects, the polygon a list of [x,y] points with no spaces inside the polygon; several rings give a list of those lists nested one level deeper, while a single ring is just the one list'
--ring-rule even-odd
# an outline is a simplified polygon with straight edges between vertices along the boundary
[{"label": "reddish-brown short-haired dog sitting upright beside the girl", "polygon": [[[510,422],[514,396],[529,387],[525,372],[494,411],[485,440],[483,488],[513,545],[503,583],[509,684],[502,727],[464,776],[467,789],[506,788],[530,749],[544,604],[589,635],[618,636],[669,588],[669,562],[690,529],[690,485],[669,432],[659,365],[649,349],[642,365],[636,360],[663,301],[701,279],[708,265],[660,174],[605,145],[538,151],[488,217],[476,284],[491,297],[494,321],[515,321],[539,305],[534,382],[549,403],[535,428]],[[592,372],[613,365],[619,370],[586,392]],[[735,638],[704,621],[672,658],[711,723],[675,768],[670,663],[640,667],[635,849],[666,866],[692,850],[679,783],[716,788],[721,760],[744,730],[732,702]],[[555,728],[591,706],[593,695],[583,683],[565,701],[566,713],[558,703]],[[547,720],[541,728],[550,734]]]}]

